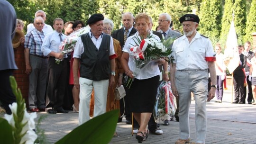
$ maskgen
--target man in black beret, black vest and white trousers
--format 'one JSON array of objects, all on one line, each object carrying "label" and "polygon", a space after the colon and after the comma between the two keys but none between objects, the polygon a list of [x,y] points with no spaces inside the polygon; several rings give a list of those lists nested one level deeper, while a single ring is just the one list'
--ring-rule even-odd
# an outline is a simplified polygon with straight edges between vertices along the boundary
[{"label": "man in black beret, black vest and white trousers", "polygon": [[[73,58],[74,87],[80,89],[79,125],[90,120],[90,99],[94,89],[94,117],[106,112],[109,83],[114,85],[115,54],[113,39],[102,33],[102,14],[92,15],[86,22],[91,27],[89,33],[77,40]],[[80,64],[80,69],[79,68]],[[78,77],[80,72],[80,78]]]}]

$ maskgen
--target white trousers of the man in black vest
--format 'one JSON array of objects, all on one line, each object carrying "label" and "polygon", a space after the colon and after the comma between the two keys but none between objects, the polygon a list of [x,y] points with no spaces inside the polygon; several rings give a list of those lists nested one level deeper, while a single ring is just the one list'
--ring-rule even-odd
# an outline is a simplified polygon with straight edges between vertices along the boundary
[{"label": "white trousers of the man in black vest", "polygon": [[79,78],[80,84],[80,103],[79,103],[79,126],[90,120],[90,100],[91,92],[94,89],[94,111],[93,117],[97,117],[106,112],[107,94],[109,80],[92,81],[85,78]]}]

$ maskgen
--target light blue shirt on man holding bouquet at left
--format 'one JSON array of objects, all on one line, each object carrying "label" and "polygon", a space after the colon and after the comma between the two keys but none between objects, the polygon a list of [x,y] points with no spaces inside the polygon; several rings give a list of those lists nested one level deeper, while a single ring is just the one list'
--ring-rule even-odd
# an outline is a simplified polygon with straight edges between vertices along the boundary
[{"label": "light blue shirt on man holding bouquet at left", "polygon": [[[60,53],[59,45],[61,44],[61,41],[59,34],[60,33],[54,31],[45,36],[42,44],[42,52],[44,55],[49,55],[52,51],[55,53]],[[61,37],[64,40],[66,35],[62,34]]]}]

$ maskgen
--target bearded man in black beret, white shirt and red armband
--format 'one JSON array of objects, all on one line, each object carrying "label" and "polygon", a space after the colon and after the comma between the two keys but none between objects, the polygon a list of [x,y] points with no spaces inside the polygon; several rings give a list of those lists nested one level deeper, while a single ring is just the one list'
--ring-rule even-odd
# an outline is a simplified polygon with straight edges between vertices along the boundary
[{"label": "bearded man in black beret, white shirt and red armband", "polygon": [[[172,47],[174,63],[170,65],[171,87],[180,102],[180,139],[175,144],[190,141],[189,107],[191,92],[196,101],[196,144],[205,144],[206,137],[206,100],[214,98],[216,90],[215,53],[210,40],[200,35],[196,28],[200,19],[194,14],[185,14],[180,18],[184,35],[174,40]],[[208,93],[208,69],[211,88]],[[207,94],[209,97],[207,98]]]}]

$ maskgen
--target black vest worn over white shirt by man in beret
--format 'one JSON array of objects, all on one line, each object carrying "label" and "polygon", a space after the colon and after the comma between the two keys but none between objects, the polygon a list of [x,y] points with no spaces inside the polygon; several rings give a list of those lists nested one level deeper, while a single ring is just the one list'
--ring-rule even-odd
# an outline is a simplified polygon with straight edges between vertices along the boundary
[{"label": "black vest worn over white shirt by man in beret", "polygon": [[89,33],[81,36],[84,51],[80,59],[80,77],[92,81],[108,80],[110,75],[110,36],[103,34],[99,50]]}]

